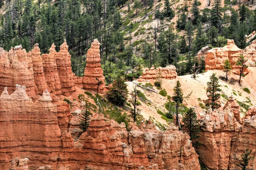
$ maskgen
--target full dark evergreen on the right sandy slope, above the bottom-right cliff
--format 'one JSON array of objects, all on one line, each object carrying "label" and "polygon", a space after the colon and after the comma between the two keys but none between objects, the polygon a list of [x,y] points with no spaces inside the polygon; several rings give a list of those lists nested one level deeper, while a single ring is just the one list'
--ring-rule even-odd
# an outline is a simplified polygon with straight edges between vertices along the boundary
[{"label": "full dark evergreen on the right sandy slope, above the bottom-right cliff", "polygon": [[209,98],[209,105],[212,107],[212,111],[215,108],[219,108],[220,105],[218,104],[218,99],[221,97],[221,94],[219,92],[221,89],[219,88],[221,85],[218,84],[218,77],[216,77],[216,74],[213,73],[210,76],[210,81],[207,82],[207,96]]}]

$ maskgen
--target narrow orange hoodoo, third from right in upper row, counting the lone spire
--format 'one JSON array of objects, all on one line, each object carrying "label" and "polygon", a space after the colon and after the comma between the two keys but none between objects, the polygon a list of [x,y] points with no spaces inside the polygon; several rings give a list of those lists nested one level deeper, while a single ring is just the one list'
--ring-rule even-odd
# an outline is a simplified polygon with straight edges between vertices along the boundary
[{"label": "narrow orange hoodoo, third from right in upper row, counting the lone spire", "polygon": [[58,77],[57,64],[55,61],[55,45],[52,44],[49,54],[42,54],[44,76],[47,81],[48,91],[56,95],[61,94],[61,82]]}]

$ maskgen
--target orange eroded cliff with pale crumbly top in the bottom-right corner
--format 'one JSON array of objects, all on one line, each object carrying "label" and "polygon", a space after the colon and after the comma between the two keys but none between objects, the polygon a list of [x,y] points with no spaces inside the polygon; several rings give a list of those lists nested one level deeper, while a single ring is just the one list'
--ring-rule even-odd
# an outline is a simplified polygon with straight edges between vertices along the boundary
[{"label": "orange eroded cliff with pale crumbly top in the bottom-right corner", "polygon": [[[246,148],[256,155],[256,116],[251,107],[247,117],[241,113],[236,99],[230,97],[223,111],[203,112],[198,115],[201,134],[198,153],[201,161],[211,170],[239,169],[236,164]],[[250,161],[250,168],[256,168],[256,160]]]}]

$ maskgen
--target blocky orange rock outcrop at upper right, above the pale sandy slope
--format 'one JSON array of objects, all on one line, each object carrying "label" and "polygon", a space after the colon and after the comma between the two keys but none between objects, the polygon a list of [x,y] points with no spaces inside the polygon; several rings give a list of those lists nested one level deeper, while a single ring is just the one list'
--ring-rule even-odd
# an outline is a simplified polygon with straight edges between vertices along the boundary
[{"label": "blocky orange rock outcrop at upper right, above the pale sandy slope", "polygon": [[[238,48],[234,40],[227,40],[227,45],[222,48],[212,48],[207,52],[205,58],[205,68],[207,70],[224,70],[223,65],[226,59],[229,60],[232,70],[231,73],[239,74],[240,67],[236,65],[239,55],[243,50]],[[244,68],[243,74],[248,74],[249,69]]]}]

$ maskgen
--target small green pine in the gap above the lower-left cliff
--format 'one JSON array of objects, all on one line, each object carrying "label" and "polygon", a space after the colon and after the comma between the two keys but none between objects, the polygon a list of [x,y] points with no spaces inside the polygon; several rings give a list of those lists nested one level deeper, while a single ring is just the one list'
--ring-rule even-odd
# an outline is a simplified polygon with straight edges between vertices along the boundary
[{"label": "small green pine in the gap above the lower-left cliff", "polygon": [[89,123],[90,123],[90,119],[93,115],[93,113],[90,112],[90,108],[87,102],[85,102],[84,105],[84,110],[81,111],[81,122],[80,122],[80,128],[83,130],[83,132],[85,132],[88,127],[89,127]]}]

